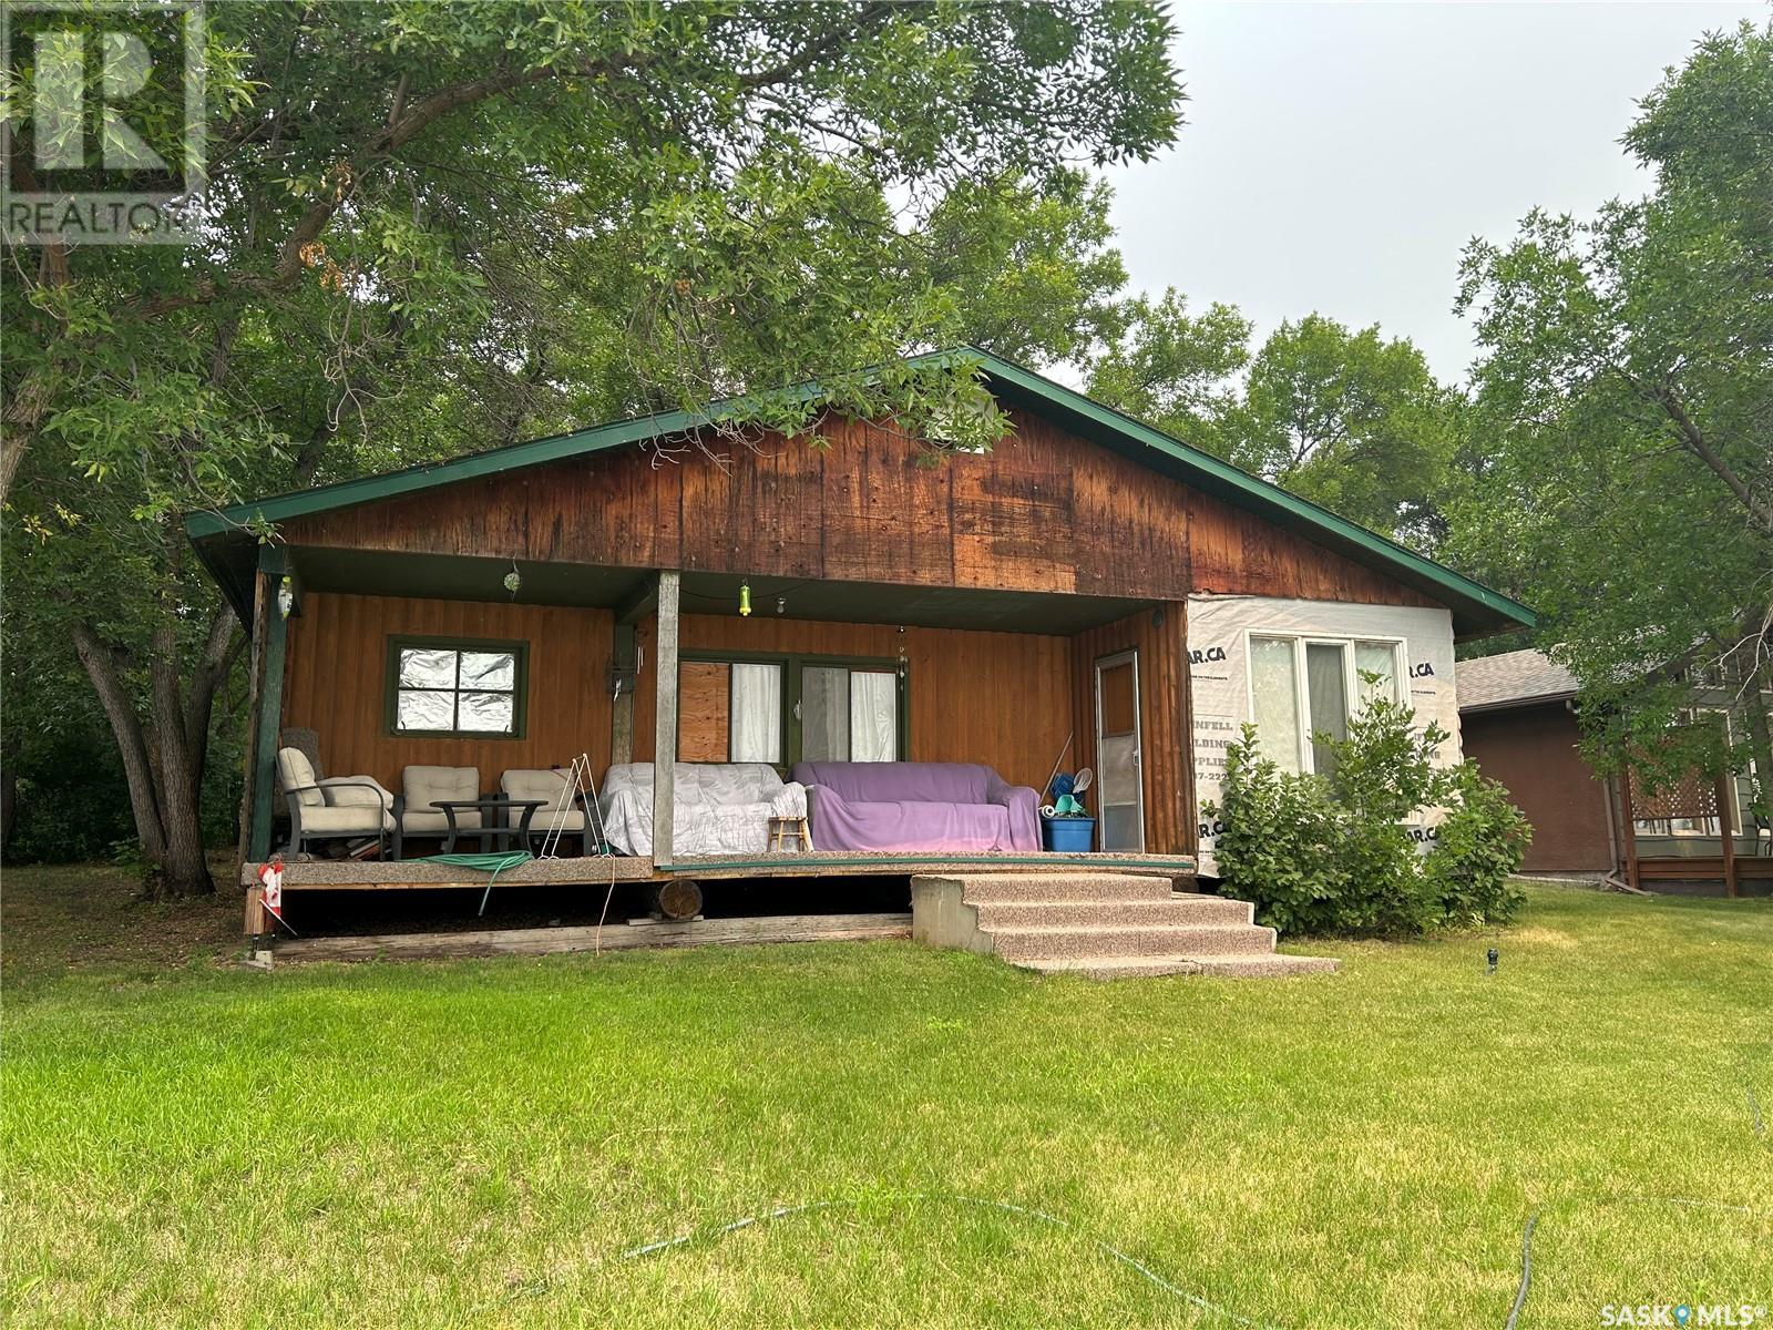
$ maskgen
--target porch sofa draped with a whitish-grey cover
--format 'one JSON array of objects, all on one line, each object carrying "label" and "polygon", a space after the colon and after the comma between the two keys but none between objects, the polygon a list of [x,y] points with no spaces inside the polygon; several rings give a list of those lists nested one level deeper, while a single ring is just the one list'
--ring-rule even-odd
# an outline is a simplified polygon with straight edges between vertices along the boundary
[{"label": "porch sofa draped with a whitish-grey cover", "polygon": [[[761,855],[771,818],[805,818],[807,789],[768,763],[677,763],[672,855]],[[603,832],[624,855],[652,853],[652,763],[617,763],[598,796]]]}]

